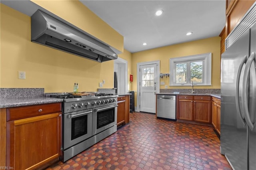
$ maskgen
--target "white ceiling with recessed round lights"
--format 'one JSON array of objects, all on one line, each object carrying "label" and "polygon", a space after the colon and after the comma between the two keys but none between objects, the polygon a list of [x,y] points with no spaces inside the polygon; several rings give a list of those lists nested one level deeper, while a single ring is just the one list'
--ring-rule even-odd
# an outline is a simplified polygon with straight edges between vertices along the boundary
[{"label": "white ceiling with recessed round lights", "polygon": [[[225,26],[225,0],[80,0],[124,36],[131,53],[218,36]],[[30,0],[1,0],[28,16],[39,6]],[[162,16],[155,16],[156,10]],[[186,36],[187,32],[193,32]],[[146,42],[144,46],[142,43]]]}]

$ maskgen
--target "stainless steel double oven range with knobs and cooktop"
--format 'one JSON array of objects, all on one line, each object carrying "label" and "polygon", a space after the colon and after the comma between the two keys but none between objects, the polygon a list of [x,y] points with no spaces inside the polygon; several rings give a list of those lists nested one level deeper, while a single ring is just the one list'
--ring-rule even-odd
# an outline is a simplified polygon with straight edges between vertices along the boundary
[{"label": "stainless steel double oven range with knobs and cooktop", "polygon": [[63,99],[63,162],[117,130],[117,95],[95,93],[77,96],[68,93],[46,93],[46,97]]}]

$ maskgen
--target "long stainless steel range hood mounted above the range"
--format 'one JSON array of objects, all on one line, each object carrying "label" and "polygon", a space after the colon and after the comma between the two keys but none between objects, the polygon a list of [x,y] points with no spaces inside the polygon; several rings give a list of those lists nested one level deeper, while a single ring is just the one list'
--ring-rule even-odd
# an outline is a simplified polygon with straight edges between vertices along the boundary
[{"label": "long stainless steel range hood mounted above the range", "polygon": [[31,41],[98,62],[117,59],[108,45],[70,25],[37,10],[31,16]]}]

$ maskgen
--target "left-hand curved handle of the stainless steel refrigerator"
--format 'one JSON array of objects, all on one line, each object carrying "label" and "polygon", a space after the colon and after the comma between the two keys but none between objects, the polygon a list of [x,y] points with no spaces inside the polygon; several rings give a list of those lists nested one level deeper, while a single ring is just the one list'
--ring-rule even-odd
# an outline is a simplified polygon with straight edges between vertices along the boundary
[{"label": "left-hand curved handle of the stainless steel refrigerator", "polygon": [[239,99],[239,83],[240,83],[242,68],[244,66],[244,63],[246,63],[246,60],[247,60],[247,57],[245,55],[238,67],[238,73],[236,75],[236,110],[244,126],[245,126],[245,120],[241,113],[240,99]]}]

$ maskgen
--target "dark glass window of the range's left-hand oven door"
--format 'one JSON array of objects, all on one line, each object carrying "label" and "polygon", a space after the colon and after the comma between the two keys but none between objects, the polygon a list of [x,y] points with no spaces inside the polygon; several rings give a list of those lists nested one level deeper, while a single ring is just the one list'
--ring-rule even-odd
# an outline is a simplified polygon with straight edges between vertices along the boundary
[{"label": "dark glass window of the range's left-hand oven door", "polygon": [[72,118],[71,140],[87,134],[88,115]]}]

